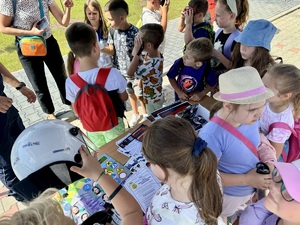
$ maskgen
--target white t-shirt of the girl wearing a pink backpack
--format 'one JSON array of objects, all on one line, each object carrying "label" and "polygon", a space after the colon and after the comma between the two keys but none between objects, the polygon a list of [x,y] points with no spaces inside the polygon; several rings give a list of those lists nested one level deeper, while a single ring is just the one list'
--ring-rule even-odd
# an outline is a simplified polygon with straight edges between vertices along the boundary
[{"label": "white t-shirt of the girl wearing a pink backpack", "polygon": [[270,125],[275,122],[283,122],[288,124],[291,128],[294,128],[293,106],[290,105],[281,113],[274,113],[267,102],[260,118],[260,128],[262,132],[266,134],[267,139],[275,143],[284,143],[287,139],[289,139],[291,131],[282,128],[274,128],[269,133]]}]

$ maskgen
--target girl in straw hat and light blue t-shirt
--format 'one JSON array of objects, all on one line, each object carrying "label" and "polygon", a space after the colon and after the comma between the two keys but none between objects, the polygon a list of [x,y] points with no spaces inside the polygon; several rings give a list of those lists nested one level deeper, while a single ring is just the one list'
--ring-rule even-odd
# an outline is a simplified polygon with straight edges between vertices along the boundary
[{"label": "girl in straw hat and light blue t-shirt", "polygon": [[[200,130],[199,137],[207,141],[219,159],[218,168],[225,186],[221,216],[226,221],[226,217],[234,215],[252,198],[254,188],[265,190],[270,184],[270,175],[257,173],[256,163],[260,160],[257,156],[260,144],[258,118],[266,99],[274,94],[264,86],[253,67],[221,74],[219,86],[220,91],[213,96],[220,101],[212,110],[216,113]],[[247,145],[234,131],[248,141]]]}]

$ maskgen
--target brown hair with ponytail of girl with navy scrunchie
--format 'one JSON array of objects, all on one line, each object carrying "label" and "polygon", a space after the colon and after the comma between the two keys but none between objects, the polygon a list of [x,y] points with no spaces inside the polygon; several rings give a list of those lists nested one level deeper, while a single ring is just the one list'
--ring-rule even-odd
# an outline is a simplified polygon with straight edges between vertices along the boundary
[{"label": "brown hair with ponytail of girl with navy scrunchie", "polygon": [[222,194],[217,182],[218,162],[209,148],[200,148],[199,153],[194,153],[195,142],[199,139],[188,121],[167,116],[147,129],[142,150],[150,163],[162,168],[166,181],[167,169],[180,176],[193,177],[188,193],[190,199],[205,223],[216,225],[222,211]]}]

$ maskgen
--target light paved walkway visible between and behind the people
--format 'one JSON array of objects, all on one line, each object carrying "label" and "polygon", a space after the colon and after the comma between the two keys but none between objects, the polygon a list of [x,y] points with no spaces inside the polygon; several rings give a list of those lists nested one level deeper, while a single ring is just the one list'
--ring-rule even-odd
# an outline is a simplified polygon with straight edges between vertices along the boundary
[{"label": "light paved walkway visible between and behind the people", "polygon": [[[300,26],[294,26],[293,21],[300,21],[300,0],[249,0],[250,1],[250,19],[265,18],[272,20],[274,25],[280,30],[272,41],[271,53],[282,56],[285,63],[294,64],[300,68]],[[165,70],[167,70],[175,59],[181,56],[183,46],[183,34],[177,31],[178,19],[169,21],[167,29],[167,42],[165,48]],[[30,83],[24,74],[24,71],[13,73],[19,80],[24,81],[28,86]],[[56,113],[69,110],[64,106],[59,97],[53,78],[47,71],[47,79],[50,91],[53,96]],[[164,78],[164,90],[166,92],[167,104],[173,101],[173,91]],[[25,126],[29,126],[44,118],[44,114],[38,103],[29,105],[26,99],[13,88],[6,87],[5,92],[14,100],[14,105],[19,109],[20,115]],[[129,109],[130,107],[128,107]],[[130,118],[130,111],[127,112]],[[80,122],[75,120],[74,125],[80,126]],[[24,208],[21,203],[16,203],[12,197],[6,195],[7,190],[0,183],[0,215],[12,214],[15,211]]]}]

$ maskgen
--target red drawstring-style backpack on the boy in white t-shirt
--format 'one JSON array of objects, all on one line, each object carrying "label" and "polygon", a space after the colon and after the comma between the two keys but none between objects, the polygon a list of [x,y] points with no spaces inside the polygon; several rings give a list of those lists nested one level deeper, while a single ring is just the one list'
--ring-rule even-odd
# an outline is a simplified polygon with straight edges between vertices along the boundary
[{"label": "red drawstring-style backpack on the boy in white t-shirt", "polygon": [[80,88],[76,94],[74,108],[87,131],[107,131],[118,125],[112,99],[104,88],[109,72],[110,68],[99,69],[95,84],[88,84],[78,73],[70,76]]}]

